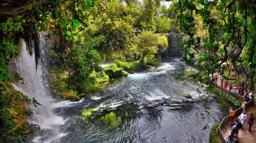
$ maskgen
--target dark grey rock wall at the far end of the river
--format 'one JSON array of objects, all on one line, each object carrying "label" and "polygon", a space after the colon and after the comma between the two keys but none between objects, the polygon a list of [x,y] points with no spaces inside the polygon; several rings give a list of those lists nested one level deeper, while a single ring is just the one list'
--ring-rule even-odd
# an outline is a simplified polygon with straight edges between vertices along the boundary
[{"label": "dark grey rock wall at the far end of the river", "polygon": [[178,34],[173,32],[165,35],[168,36],[168,48],[166,48],[165,52],[162,53],[162,56],[163,57],[182,56],[182,50],[180,50],[181,39],[178,37]]}]

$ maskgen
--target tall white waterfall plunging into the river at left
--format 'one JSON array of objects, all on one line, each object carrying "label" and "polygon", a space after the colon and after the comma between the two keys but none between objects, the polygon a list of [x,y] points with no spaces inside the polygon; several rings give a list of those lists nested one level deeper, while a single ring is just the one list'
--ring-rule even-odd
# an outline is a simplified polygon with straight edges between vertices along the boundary
[{"label": "tall white waterfall plunging into the river at left", "polygon": [[35,52],[33,51],[33,54],[29,55],[26,50],[26,43],[23,40],[21,53],[13,62],[14,70],[19,73],[23,81],[13,84],[13,87],[31,99],[35,98],[41,104],[38,107],[28,106],[33,111],[33,115],[28,118],[28,122],[41,127],[41,132],[34,139],[31,139],[32,142],[58,142],[58,139],[65,135],[59,131],[59,126],[64,124],[64,119],[54,113],[54,108],[56,108],[54,104],[57,101],[52,98],[46,80],[48,43],[42,34],[39,35],[39,44],[41,56],[38,59],[38,65],[36,65]]}]

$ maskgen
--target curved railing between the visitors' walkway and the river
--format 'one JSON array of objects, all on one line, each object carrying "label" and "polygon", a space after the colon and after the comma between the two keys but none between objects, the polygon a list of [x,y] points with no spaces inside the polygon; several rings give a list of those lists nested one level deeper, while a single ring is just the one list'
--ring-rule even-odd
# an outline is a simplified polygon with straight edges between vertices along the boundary
[{"label": "curved railing between the visitors' walkway and the river", "polygon": [[[219,90],[221,90],[221,91],[227,93],[227,94],[230,95],[230,96],[233,96],[234,98],[236,98],[238,101],[240,101],[240,102],[242,103],[242,101],[243,101],[243,99],[244,99],[243,96],[237,95],[237,94],[233,93],[232,91],[227,90],[227,89],[225,89],[225,88],[222,88],[221,86],[219,86],[219,85],[217,85],[217,84],[214,84],[214,85],[215,85],[215,87],[217,87]],[[247,103],[245,109],[247,109],[247,108],[250,107],[250,106],[253,106],[253,101],[252,101],[252,100],[250,100],[250,101]],[[238,109],[235,111],[235,116],[237,117],[239,114],[241,114],[241,113],[242,113],[242,110],[243,110],[242,107],[238,108]],[[221,139],[222,142],[226,142],[225,139],[224,139],[223,132],[222,132],[222,127],[225,126],[225,124],[227,124],[230,120],[231,120],[231,119],[230,119],[230,116],[228,115],[227,117],[225,117],[225,118],[222,120],[222,122],[220,122],[220,126],[218,126],[218,136],[220,136],[220,139]]]}]

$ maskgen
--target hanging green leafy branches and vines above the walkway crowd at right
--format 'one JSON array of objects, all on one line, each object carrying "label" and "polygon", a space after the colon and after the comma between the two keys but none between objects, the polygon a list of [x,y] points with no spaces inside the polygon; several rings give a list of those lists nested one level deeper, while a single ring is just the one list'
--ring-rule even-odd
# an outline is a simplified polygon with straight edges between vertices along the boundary
[{"label": "hanging green leafy branches and vines above the walkway crowd at right", "polygon": [[202,78],[231,71],[245,88],[255,83],[254,1],[178,1],[183,58],[196,61]]}]

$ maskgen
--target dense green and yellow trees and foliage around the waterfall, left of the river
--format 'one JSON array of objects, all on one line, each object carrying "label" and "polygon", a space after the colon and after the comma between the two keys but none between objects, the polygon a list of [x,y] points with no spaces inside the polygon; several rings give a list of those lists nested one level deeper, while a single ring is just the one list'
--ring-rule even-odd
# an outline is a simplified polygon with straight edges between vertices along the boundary
[{"label": "dense green and yellow trees and foliage around the waterfall, left of the river", "polygon": [[[176,30],[173,7],[161,1],[4,1],[0,12],[0,142],[19,142],[26,138],[24,103],[35,99],[14,91],[14,76],[8,70],[19,53],[21,39],[26,41],[36,63],[39,58],[39,32],[53,41],[50,82],[58,95],[79,99],[88,91],[108,84],[111,78],[133,73],[147,64],[157,65],[167,39],[155,32]],[[136,32],[137,31],[137,32]],[[149,42],[150,43],[146,43]],[[34,45],[33,45],[34,44]],[[116,67],[101,68],[111,60]],[[108,73],[108,74],[106,74]],[[18,81],[18,80],[15,80]],[[40,101],[39,101],[40,102]],[[28,130],[27,130],[28,132]]]}]

